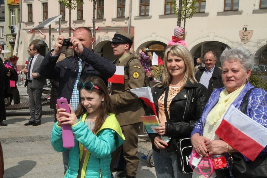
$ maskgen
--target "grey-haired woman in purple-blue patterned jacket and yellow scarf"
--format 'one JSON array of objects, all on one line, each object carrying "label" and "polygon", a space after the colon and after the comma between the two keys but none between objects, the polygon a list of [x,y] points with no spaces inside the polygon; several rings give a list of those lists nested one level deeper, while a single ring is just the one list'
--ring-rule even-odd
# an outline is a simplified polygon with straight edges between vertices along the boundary
[{"label": "grey-haired woman in purple-blue patterned jacket and yellow scarf", "polygon": [[[215,90],[208,100],[204,113],[191,133],[191,142],[196,152],[203,156],[238,152],[223,140],[210,141],[220,125],[228,107],[241,109],[243,97],[254,86],[249,84],[251,67],[254,64],[253,54],[245,48],[225,49],[221,55],[222,81],[225,87]],[[245,114],[256,122],[267,127],[267,92],[254,88],[248,97]],[[255,114],[265,113],[265,114]],[[264,148],[266,153],[266,148]],[[263,151],[264,152],[264,151]],[[193,173],[192,177],[199,177]],[[215,174],[212,175],[215,177]]]}]

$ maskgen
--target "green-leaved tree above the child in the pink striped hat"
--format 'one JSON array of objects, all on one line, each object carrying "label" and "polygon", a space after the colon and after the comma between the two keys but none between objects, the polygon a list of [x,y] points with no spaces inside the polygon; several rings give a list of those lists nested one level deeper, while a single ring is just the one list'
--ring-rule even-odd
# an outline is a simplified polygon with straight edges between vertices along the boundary
[{"label": "green-leaved tree above the child in the pink striped hat", "polygon": [[177,6],[177,0],[170,0],[171,6],[174,9],[177,17],[177,26],[181,27],[181,20],[184,21],[184,30],[186,30],[186,18],[192,18],[194,13],[196,13],[196,0],[179,0]]}]

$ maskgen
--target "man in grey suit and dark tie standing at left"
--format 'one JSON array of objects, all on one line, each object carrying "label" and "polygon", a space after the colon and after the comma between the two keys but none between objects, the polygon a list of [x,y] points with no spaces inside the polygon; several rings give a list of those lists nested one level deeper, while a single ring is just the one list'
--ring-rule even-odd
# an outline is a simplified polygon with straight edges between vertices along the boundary
[{"label": "man in grey suit and dark tie standing at left", "polygon": [[26,74],[25,85],[27,86],[31,118],[24,125],[37,126],[41,124],[42,118],[42,90],[46,87],[46,78],[40,76],[39,68],[44,59],[44,56],[39,54],[40,46],[32,44],[29,49],[30,59],[26,68],[23,70]]}]

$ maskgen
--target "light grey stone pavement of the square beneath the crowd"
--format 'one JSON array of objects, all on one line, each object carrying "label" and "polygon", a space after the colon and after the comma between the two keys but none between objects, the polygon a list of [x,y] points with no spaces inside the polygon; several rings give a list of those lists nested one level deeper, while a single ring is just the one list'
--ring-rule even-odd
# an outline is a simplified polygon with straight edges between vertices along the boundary
[{"label": "light grey stone pavement of the square beneath the crowd", "polygon": [[[20,102],[29,97],[20,97]],[[25,126],[29,121],[29,109],[6,112],[7,126],[0,128],[0,141],[4,153],[4,178],[58,178],[63,177],[62,153],[50,144],[54,124],[54,111],[50,106],[42,107],[39,126]],[[136,177],[155,178],[154,167],[147,164],[146,156],[151,150],[148,138],[139,139],[139,167]],[[114,172],[116,178],[120,172]]]}]

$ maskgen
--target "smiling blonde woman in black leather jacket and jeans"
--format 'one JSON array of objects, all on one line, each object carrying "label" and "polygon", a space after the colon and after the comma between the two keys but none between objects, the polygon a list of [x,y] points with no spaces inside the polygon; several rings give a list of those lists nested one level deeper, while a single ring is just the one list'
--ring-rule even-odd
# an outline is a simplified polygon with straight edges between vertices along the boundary
[{"label": "smiling blonde woman in black leather jacket and jeans", "polygon": [[[158,178],[191,177],[178,169],[175,144],[188,138],[207,103],[207,89],[197,83],[189,50],[182,45],[166,49],[163,81],[153,92],[160,127],[149,134]],[[166,105],[165,105],[166,98]],[[167,108],[168,112],[164,112]],[[170,138],[166,143],[161,136]]]}]

